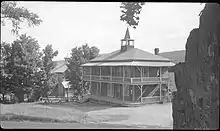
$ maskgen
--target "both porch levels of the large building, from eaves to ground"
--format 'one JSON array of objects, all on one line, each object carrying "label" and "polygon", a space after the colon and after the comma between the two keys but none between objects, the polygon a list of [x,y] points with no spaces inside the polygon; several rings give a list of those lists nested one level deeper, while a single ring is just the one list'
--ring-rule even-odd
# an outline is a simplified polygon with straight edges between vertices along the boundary
[{"label": "both porch levels of the large building, from eaves to ground", "polygon": [[[94,101],[118,105],[143,105],[162,101],[166,68],[157,67],[83,67],[83,80],[90,83]],[[146,87],[148,86],[148,87]],[[155,95],[156,94],[156,95]]]}]

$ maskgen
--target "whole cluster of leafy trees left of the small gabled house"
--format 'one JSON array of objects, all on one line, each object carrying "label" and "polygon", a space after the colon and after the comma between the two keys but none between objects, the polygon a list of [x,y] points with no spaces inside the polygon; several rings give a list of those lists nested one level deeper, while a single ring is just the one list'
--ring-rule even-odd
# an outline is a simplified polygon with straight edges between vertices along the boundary
[{"label": "whole cluster of leafy trees left of the small gabled house", "polygon": [[40,52],[38,42],[30,36],[21,35],[12,44],[2,43],[4,75],[1,74],[1,93],[32,94],[36,98],[47,96],[51,77],[52,59],[58,51],[47,45]]}]

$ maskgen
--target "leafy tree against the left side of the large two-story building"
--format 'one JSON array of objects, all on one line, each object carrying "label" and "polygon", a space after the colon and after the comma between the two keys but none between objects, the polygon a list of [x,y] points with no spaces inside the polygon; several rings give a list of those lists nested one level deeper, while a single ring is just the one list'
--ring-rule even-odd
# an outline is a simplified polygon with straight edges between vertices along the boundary
[{"label": "leafy tree against the left side of the large two-story building", "polygon": [[95,46],[89,47],[84,44],[81,47],[75,47],[71,50],[71,57],[66,58],[68,71],[66,79],[70,81],[71,88],[77,91],[77,94],[82,95],[86,91],[86,83],[82,83],[82,68],[81,64],[97,57],[99,49]]}]

